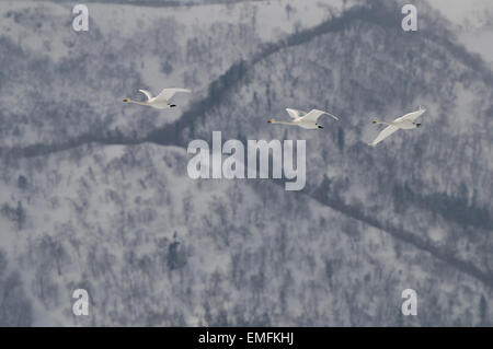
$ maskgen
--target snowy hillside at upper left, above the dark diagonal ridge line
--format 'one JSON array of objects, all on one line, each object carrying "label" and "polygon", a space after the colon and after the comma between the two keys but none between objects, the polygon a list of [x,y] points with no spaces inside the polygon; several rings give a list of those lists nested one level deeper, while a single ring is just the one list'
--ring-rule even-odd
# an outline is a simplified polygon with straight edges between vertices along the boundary
[{"label": "snowy hillside at upper left, above the dark diagonal ridge line", "polygon": [[[261,45],[337,13],[341,1],[245,2],[154,8],[90,3],[88,32],[71,27],[72,4],[2,1],[0,147],[124,135],[139,138],[180,117],[192,98]],[[122,103],[185,86],[163,116]]]}]

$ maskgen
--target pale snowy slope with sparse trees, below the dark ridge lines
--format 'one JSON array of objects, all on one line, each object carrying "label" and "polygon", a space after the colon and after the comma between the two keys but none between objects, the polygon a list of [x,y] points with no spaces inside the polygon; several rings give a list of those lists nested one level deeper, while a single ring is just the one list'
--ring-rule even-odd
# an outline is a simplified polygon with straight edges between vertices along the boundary
[{"label": "pale snowy slope with sparse trees, below the dark ridge lines", "polygon": [[[0,201],[25,217],[0,219],[26,293],[9,302],[44,326],[436,324],[395,313],[413,286],[442,324],[481,321],[470,307],[488,288],[428,253],[268,182],[188,179],[186,161],[173,147],[82,147],[2,170]],[[71,314],[76,288],[89,317]]]}]

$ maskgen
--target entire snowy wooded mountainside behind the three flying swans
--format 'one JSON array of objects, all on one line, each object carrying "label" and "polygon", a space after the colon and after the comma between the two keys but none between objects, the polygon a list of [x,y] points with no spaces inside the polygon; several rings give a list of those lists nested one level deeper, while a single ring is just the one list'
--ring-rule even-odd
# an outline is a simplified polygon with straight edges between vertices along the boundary
[{"label": "entire snowy wooded mountainside behind the three flying swans", "polygon": [[[0,1],[0,325],[492,325],[491,1],[76,3]],[[307,186],[190,179],[213,131],[306,139]]]}]

